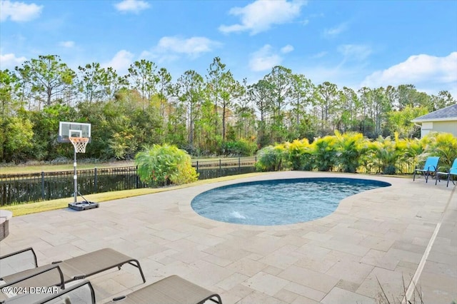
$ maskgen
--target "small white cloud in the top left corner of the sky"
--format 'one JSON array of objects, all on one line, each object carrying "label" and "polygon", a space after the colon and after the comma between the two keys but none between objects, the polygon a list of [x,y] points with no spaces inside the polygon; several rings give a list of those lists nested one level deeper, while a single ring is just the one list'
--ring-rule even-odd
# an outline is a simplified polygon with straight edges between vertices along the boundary
[{"label": "small white cloud in the top left corner of the sky", "polygon": [[7,19],[17,22],[31,21],[41,14],[42,9],[43,6],[34,3],[0,0],[0,21]]}]

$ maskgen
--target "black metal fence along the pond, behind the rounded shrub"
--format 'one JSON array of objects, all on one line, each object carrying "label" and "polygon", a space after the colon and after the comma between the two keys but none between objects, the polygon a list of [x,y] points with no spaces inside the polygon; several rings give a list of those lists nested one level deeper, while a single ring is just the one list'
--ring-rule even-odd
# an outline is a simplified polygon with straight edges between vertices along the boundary
[{"label": "black metal fence along the pond, behind the rounded shrub", "polygon": [[[255,157],[217,161],[194,161],[199,179],[255,171]],[[92,193],[147,188],[135,166],[78,170],[78,191]],[[29,201],[47,201],[74,196],[74,171],[0,175],[0,206]]]}]

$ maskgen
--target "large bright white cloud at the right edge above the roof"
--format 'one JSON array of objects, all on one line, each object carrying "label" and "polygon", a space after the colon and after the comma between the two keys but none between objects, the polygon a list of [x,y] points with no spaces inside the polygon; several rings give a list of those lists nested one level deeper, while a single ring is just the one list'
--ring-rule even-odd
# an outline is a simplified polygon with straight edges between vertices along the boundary
[{"label": "large bright white cloud at the right edge above the roof", "polygon": [[445,57],[426,54],[410,56],[406,61],[366,76],[361,86],[398,86],[413,84],[419,91],[457,93],[457,52]]}]

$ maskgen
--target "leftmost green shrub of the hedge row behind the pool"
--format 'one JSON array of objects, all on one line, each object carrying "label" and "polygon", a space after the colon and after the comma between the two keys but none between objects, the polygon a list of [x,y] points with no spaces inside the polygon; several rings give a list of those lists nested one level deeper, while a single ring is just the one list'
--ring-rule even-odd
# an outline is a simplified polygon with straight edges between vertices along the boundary
[{"label": "leftmost green shrub of the hedge row behind the pool", "polygon": [[266,146],[257,153],[257,171],[280,171],[289,167],[285,144]]}]

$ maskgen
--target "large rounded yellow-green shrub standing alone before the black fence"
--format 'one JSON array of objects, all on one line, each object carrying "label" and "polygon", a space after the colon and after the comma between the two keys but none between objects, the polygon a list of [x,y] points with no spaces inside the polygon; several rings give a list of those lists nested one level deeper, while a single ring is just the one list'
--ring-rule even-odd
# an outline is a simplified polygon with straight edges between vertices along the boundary
[{"label": "large rounded yellow-green shrub standing alone before the black fence", "polygon": [[146,147],[136,154],[135,164],[141,181],[153,186],[179,185],[198,179],[191,156],[176,146],[164,144]]}]

